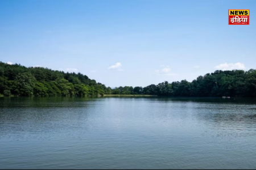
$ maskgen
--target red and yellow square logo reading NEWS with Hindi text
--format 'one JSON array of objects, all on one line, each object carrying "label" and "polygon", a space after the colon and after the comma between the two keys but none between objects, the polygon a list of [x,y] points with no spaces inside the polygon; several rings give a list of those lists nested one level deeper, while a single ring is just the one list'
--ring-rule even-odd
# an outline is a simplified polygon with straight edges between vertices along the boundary
[{"label": "red and yellow square logo reading NEWS with Hindi text", "polygon": [[229,10],[229,25],[249,25],[249,10]]}]

